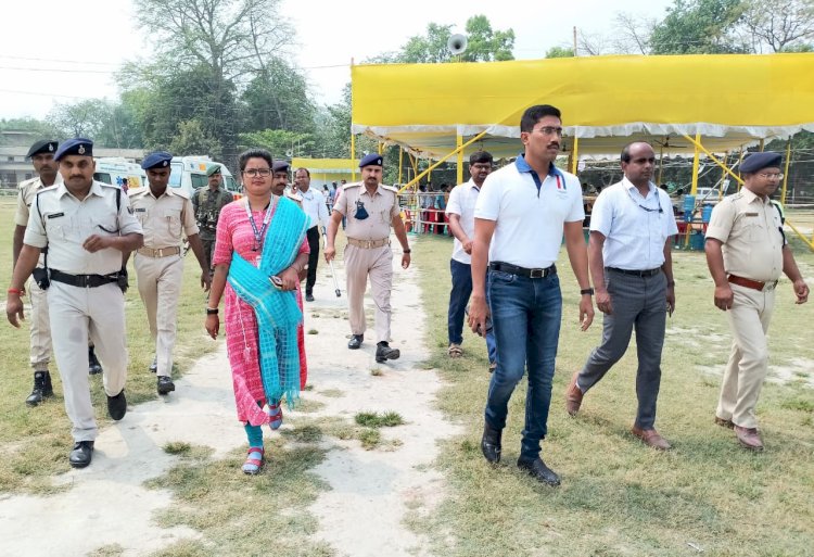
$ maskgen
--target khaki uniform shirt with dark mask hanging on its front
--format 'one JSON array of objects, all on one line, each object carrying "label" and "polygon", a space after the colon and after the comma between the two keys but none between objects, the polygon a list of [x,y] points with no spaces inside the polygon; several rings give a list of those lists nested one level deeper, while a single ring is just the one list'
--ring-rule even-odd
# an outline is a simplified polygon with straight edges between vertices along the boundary
[{"label": "khaki uniform shirt with dark mask hanging on its front", "polygon": [[[368,217],[356,218],[357,204],[365,205]],[[383,240],[390,237],[393,217],[399,213],[398,190],[379,185],[370,195],[363,182],[346,183],[342,195],[333,206],[347,218],[345,235],[355,240]]]}]

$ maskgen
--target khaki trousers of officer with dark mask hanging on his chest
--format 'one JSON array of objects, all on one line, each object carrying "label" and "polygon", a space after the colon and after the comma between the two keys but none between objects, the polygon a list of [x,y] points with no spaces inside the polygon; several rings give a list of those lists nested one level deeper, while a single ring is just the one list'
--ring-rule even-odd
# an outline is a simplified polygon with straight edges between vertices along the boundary
[{"label": "khaki trousers of officer with dark mask hanging on his chest", "polygon": [[376,304],[376,341],[390,342],[390,292],[393,287],[393,251],[381,248],[345,246],[345,274],[347,275],[347,303],[351,308],[351,332],[364,334],[365,291],[368,276]]}]

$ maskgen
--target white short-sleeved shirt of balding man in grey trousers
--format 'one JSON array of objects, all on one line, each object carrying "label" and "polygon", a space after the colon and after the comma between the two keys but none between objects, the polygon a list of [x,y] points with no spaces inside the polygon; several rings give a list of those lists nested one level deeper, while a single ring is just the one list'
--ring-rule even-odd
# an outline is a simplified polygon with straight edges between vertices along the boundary
[{"label": "white short-sleeved shirt of balding man in grey trousers", "polygon": [[606,238],[605,266],[627,270],[661,267],[664,243],[678,233],[670,195],[651,182],[643,198],[627,178],[599,194],[590,214],[590,230]]}]

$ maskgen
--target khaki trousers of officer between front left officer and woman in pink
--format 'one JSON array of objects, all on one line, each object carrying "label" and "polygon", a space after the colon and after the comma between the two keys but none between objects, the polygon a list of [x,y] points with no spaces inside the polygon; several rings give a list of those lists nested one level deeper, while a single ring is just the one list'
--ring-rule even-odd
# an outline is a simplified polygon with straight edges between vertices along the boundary
[{"label": "khaki trousers of officer between front left officer and woman in pink", "polygon": [[181,296],[183,258],[180,255],[133,259],[141,301],[147,309],[150,334],[155,343],[158,376],[173,374],[173,347],[176,339],[176,313]]}]

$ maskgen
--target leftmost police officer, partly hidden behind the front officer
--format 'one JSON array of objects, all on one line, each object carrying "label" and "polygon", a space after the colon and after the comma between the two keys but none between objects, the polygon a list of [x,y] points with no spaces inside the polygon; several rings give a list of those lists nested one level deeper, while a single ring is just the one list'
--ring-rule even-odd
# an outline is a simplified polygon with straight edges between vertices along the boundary
[{"label": "leftmost police officer, partly hidden behind the front officer", "polygon": [[[37,192],[42,188],[62,182],[62,177],[56,172],[56,162],[53,160],[58,147],[59,143],[56,141],[46,139],[34,143],[26,154],[26,157],[31,160],[34,170],[38,176],[37,178],[25,180],[20,185],[17,211],[14,215],[14,224],[16,226],[14,227],[13,264],[15,266],[20,251],[23,249],[23,237],[30,213],[29,207],[34,203]],[[33,279],[28,283],[28,293],[31,301],[30,362],[34,368],[34,389],[28,398],[25,400],[28,406],[37,406],[43,398],[53,395],[51,374],[48,371],[48,364],[51,360],[51,327],[48,322],[48,304],[46,303],[46,289],[48,288],[46,252],[47,250],[43,250],[40,254],[37,268],[34,269]],[[25,289],[23,289],[23,292],[25,292]],[[88,371],[91,375],[101,374],[102,366],[97,359],[92,344],[88,346]]]}]

